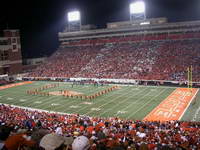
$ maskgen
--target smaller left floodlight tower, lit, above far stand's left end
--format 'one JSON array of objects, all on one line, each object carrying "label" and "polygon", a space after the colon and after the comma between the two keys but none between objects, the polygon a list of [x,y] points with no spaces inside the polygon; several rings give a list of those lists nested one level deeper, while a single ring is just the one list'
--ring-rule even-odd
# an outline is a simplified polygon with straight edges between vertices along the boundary
[{"label": "smaller left floodlight tower, lit, above far stand's left end", "polygon": [[67,18],[69,32],[81,30],[81,15],[79,11],[68,12]]}]

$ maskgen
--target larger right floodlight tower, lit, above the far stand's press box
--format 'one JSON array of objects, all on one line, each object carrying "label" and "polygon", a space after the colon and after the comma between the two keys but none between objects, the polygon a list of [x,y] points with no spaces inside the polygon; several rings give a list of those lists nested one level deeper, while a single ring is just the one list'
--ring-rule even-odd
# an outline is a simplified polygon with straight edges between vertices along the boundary
[{"label": "larger right floodlight tower, lit, above the far stand's press box", "polygon": [[142,0],[137,0],[130,4],[130,20],[145,20],[145,3]]}]

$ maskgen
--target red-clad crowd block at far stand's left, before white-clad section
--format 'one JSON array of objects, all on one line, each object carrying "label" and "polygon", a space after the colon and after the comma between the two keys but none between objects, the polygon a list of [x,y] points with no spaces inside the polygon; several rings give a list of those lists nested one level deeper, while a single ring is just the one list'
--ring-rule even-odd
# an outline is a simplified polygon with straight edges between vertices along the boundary
[{"label": "red-clad crowd block at far stand's left, before white-clad section", "polygon": [[68,47],[59,49],[46,63],[37,67],[29,76],[32,77],[73,77],[81,70],[102,46]]}]

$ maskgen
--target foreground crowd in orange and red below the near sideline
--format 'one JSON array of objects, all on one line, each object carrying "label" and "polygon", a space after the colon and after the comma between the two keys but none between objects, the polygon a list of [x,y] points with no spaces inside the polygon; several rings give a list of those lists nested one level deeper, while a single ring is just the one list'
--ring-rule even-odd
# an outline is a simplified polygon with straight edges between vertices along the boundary
[{"label": "foreground crowd in orange and red below the near sideline", "polygon": [[200,123],[147,122],[48,113],[0,105],[0,149],[200,149]]}]

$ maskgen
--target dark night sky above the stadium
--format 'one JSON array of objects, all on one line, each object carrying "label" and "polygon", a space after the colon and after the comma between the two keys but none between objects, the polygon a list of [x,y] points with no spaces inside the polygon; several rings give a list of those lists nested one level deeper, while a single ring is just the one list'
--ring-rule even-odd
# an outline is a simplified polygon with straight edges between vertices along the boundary
[{"label": "dark night sky above the stadium", "polygon": [[[105,27],[129,19],[133,0],[1,0],[0,29],[20,29],[23,57],[50,55],[59,45],[57,33],[67,24],[66,13],[81,11],[82,24]],[[200,20],[200,0],[146,0],[147,18],[170,22]]]}]

